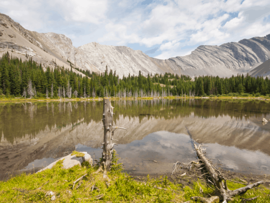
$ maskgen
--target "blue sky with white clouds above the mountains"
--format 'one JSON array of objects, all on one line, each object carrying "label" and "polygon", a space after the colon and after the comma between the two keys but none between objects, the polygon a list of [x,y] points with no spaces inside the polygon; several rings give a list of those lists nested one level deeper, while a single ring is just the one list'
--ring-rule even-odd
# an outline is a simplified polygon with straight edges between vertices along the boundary
[{"label": "blue sky with white clouds above the mountains", "polygon": [[269,0],[1,0],[0,13],[75,47],[95,41],[159,59],[270,34]]}]

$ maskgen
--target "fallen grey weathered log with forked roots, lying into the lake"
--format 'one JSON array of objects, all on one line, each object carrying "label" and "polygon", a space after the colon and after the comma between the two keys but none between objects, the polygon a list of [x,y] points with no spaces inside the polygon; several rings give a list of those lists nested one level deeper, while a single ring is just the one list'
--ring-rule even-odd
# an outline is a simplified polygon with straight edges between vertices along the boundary
[{"label": "fallen grey weathered log with forked roots, lying into the lake", "polygon": [[[191,136],[189,130],[188,130],[188,133]],[[227,187],[226,179],[221,175],[220,171],[217,170],[214,166],[212,166],[210,161],[205,157],[205,155],[204,155],[205,152],[203,152],[201,149],[202,145],[197,146],[195,144],[195,142],[193,142],[193,144],[194,144],[194,148],[195,148],[195,151],[197,152],[199,160],[204,163],[205,168],[211,177],[212,181],[209,179],[208,179],[208,181],[215,186],[215,189],[216,189],[215,192],[216,192],[216,195],[219,197],[220,202],[226,203],[227,201],[231,200],[232,197],[234,197],[236,195],[243,195],[247,192],[247,190],[250,190],[250,189],[252,189],[260,184],[263,184],[265,182],[265,181],[258,181],[256,183],[247,185],[247,186],[242,187],[242,188],[238,188],[236,190],[229,190]],[[206,199],[206,198],[202,199],[202,198],[194,197],[194,199],[200,200],[202,202],[210,203],[215,198],[211,197],[208,199]]]}]

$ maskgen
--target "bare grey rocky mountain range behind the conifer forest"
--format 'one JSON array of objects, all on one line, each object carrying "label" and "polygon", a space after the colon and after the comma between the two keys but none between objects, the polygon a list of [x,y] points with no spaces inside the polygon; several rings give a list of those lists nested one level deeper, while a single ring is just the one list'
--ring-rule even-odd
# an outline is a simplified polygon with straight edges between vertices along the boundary
[{"label": "bare grey rocky mountain range behind the conifer forest", "polygon": [[270,76],[270,63],[267,62],[270,59],[270,34],[220,46],[200,45],[190,55],[160,60],[126,46],[91,42],[74,47],[65,35],[29,31],[0,13],[0,56],[6,51],[23,60],[31,56],[44,68],[57,65],[70,68],[71,62],[74,67],[90,72],[104,72],[108,67],[120,77],[138,75],[139,71],[143,75],[171,72],[191,77],[231,77],[247,72],[254,77]]}]

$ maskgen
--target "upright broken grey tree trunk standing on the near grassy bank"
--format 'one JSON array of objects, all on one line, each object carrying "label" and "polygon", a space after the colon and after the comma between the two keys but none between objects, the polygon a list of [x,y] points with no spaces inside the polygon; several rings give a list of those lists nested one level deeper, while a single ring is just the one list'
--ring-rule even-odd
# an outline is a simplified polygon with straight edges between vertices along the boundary
[{"label": "upright broken grey tree trunk standing on the near grassy bank", "polygon": [[[103,178],[106,178],[109,180],[107,176],[107,171],[111,169],[112,166],[112,152],[113,152],[113,146],[118,145],[112,140],[115,140],[112,138],[114,131],[117,128],[121,127],[113,127],[112,126],[112,116],[113,116],[113,108],[111,105],[111,101],[109,98],[103,98],[103,117],[102,117],[102,122],[103,122],[103,127],[104,127],[104,139],[103,143],[103,153],[102,153],[102,158],[100,162],[99,169],[96,171],[96,173],[103,172]],[[115,130],[112,130],[115,129]],[[125,128],[121,128],[125,129]],[[125,129],[126,130],[126,129]],[[118,141],[118,140],[115,140]]]}]

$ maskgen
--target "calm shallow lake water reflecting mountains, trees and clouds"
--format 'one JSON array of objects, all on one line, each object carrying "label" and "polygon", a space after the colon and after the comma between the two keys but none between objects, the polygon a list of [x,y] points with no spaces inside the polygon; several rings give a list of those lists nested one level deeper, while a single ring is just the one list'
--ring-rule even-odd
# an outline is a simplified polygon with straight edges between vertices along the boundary
[{"label": "calm shallow lake water reflecting mountains, trees and clouds", "polygon": [[[207,156],[223,168],[270,173],[270,124],[261,122],[270,118],[268,101],[118,100],[112,106],[114,126],[127,128],[114,133],[127,172],[172,172],[176,160],[195,160],[193,138],[208,145]],[[36,171],[75,148],[98,159],[102,108],[95,101],[0,104],[0,179]]]}]

